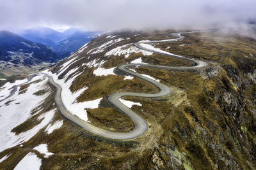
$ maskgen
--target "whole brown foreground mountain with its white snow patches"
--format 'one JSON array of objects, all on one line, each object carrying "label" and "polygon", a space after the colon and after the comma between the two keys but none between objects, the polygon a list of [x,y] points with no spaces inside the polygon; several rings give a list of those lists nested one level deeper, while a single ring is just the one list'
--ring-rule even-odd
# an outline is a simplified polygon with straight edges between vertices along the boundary
[{"label": "whole brown foreground mountain with its white snow patches", "polygon": [[[255,41],[170,32],[104,34],[51,69],[3,81],[0,169],[255,169]],[[118,98],[148,124],[136,138],[103,138],[69,121],[134,132],[143,125],[109,96],[159,92],[150,82],[172,92]]]}]

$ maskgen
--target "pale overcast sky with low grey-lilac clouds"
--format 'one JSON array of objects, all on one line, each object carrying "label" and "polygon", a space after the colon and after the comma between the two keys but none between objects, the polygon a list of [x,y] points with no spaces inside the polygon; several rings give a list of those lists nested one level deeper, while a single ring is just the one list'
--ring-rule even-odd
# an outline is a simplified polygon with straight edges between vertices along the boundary
[{"label": "pale overcast sky with low grey-lilac clouds", "polygon": [[0,0],[0,29],[216,27],[256,19],[256,0]]}]

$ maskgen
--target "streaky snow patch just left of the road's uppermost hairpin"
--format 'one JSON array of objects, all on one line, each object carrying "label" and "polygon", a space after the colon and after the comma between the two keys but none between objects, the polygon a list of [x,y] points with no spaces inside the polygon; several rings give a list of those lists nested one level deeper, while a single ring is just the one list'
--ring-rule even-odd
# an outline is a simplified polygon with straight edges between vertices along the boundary
[{"label": "streaky snow patch just left of the road's uppermost hairpin", "polygon": [[[127,48],[129,46],[129,48]],[[110,55],[125,55],[125,58],[129,57],[131,53],[142,53],[143,55],[152,55],[152,52],[148,52],[146,50],[141,50],[137,48],[136,46],[133,46],[132,44],[122,45],[118,46],[116,48],[113,48],[109,52],[106,52],[104,56],[110,56]]]}]

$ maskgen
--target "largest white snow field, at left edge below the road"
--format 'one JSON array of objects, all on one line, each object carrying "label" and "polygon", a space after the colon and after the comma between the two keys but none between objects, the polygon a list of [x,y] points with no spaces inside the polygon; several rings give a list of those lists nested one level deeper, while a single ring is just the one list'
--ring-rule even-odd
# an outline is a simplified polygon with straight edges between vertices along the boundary
[{"label": "largest white snow field, at left edge below the road", "polygon": [[[29,85],[28,90],[24,94],[19,94],[19,88],[17,92],[10,97],[10,99],[6,101],[2,101],[0,103],[0,152],[6,150],[7,148],[12,148],[13,146],[20,145],[29,139],[31,139],[37,132],[39,132],[42,128],[44,128],[47,124],[49,124],[54,116],[56,110],[48,111],[38,117],[38,120],[42,120],[40,124],[35,125],[32,129],[28,131],[21,132],[20,134],[15,134],[11,132],[14,127],[17,125],[26,122],[29,118],[31,118],[31,111],[39,106],[44,99],[49,95],[49,93],[44,94],[43,96],[35,96],[33,93],[38,90],[45,89],[45,83],[47,83],[48,79],[44,77],[44,75],[38,75],[33,78],[31,81],[41,80],[38,83],[32,83]],[[20,81],[15,81],[13,84],[19,84]],[[10,84],[8,83],[7,86]],[[4,85],[6,86],[6,85]],[[1,92],[0,92],[1,95]],[[14,101],[13,101],[14,100]],[[12,101],[8,105],[4,104],[7,101]],[[37,111],[37,113],[40,110]],[[8,114],[7,114],[8,113]],[[36,115],[36,113],[35,113]]]}]

